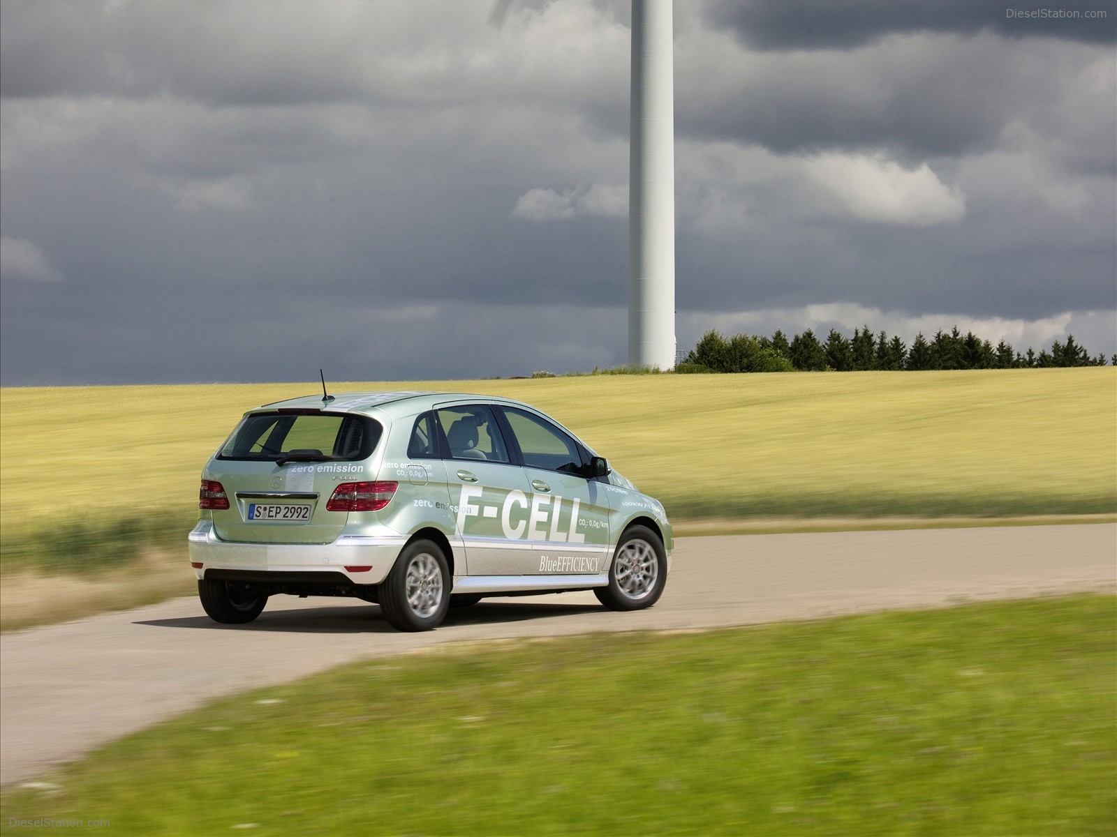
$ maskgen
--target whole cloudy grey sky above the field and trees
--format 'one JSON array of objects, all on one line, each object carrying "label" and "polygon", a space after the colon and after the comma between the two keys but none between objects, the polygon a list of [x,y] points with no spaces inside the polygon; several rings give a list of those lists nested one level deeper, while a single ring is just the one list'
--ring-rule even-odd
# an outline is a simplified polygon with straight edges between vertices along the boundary
[{"label": "whole cloudy grey sky above the field and trees", "polygon": [[[4,0],[3,384],[624,363],[629,4],[491,8]],[[680,348],[1117,352],[1117,8],[1009,9],[676,0]]]}]

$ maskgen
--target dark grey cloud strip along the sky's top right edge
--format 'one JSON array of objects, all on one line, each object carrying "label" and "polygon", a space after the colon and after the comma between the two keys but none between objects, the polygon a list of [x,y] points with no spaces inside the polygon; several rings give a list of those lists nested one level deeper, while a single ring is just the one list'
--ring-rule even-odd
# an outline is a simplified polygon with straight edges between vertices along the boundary
[{"label": "dark grey cloud strip along the sky's top right edge", "polygon": [[942,32],[1111,44],[1113,0],[708,0],[708,20],[750,47],[851,49],[889,35]]}]

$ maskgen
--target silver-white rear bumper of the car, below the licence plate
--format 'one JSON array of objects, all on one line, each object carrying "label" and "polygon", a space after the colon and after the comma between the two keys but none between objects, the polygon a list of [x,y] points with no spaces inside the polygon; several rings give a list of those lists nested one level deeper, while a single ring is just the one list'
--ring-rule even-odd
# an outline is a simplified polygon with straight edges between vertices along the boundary
[{"label": "silver-white rear bumper of the car, below the licence plate", "polygon": [[[198,579],[210,570],[267,574],[340,574],[352,584],[380,584],[407,543],[402,535],[343,535],[333,543],[235,543],[213,533],[213,523],[198,521],[189,536],[190,561]],[[354,571],[346,567],[369,567]],[[223,575],[223,574],[222,574]]]}]

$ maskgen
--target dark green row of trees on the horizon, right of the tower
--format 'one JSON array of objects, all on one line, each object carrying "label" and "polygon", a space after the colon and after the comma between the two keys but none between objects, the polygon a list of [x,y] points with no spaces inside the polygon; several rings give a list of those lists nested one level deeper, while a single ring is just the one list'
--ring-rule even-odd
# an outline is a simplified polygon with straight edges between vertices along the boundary
[{"label": "dark green row of trees on the horizon, right of the tower", "polygon": [[[1117,366],[1117,355],[1111,358]],[[963,335],[955,326],[949,333],[937,331],[929,340],[919,334],[909,347],[899,337],[885,331],[877,335],[865,328],[853,329],[852,339],[831,328],[825,341],[806,329],[791,340],[776,331],[771,337],[738,334],[724,337],[709,330],[690,349],[677,373],[703,372],[861,372],[922,369],[1020,369],[1053,366],[1105,366],[1102,355],[1091,357],[1085,346],[1068,335],[1066,343],[1054,340],[1051,349],[1039,354],[1013,349],[1001,340],[993,346],[973,331]]]}]

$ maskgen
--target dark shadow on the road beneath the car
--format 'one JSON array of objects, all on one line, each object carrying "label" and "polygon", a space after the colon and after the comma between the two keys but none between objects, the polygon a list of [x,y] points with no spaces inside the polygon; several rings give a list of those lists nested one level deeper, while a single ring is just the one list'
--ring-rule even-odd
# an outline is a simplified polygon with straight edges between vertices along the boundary
[{"label": "dark shadow on the road beneath the car", "polygon": [[[601,612],[600,605],[562,603],[529,604],[518,602],[479,602],[472,607],[450,608],[441,628],[467,625],[489,625],[507,622],[546,619],[555,616]],[[247,625],[221,625],[206,615],[180,616],[170,619],[140,619],[133,625],[171,628],[203,628],[208,631],[254,631],[264,633],[296,634],[393,634],[395,628],[384,620],[380,607],[372,604],[293,607],[265,610]]]}]

